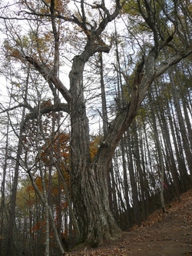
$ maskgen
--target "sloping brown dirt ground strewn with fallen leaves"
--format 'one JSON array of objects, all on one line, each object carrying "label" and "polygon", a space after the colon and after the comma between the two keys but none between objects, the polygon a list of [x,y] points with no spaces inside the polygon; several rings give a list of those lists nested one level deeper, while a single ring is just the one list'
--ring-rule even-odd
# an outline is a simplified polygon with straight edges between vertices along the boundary
[{"label": "sloping brown dirt ground strewn with fallen leaves", "polygon": [[192,190],[170,204],[166,214],[156,211],[140,228],[124,232],[118,241],[92,249],[83,244],[70,256],[156,256],[192,255]]}]

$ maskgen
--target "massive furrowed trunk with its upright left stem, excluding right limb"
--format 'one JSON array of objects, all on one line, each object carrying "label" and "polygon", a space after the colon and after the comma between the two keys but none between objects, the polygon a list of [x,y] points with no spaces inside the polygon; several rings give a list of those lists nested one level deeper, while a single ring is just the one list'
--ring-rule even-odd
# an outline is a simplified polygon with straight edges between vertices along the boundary
[{"label": "massive furrowed trunk with its upright left stem, excluding right limb", "polygon": [[[121,235],[108,204],[105,155],[91,163],[88,118],[84,105],[82,56],[74,58],[71,81],[71,186],[74,208],[82,241],[98,246],[102,241]],[[111,158],[110,158],[111,162]]]}]

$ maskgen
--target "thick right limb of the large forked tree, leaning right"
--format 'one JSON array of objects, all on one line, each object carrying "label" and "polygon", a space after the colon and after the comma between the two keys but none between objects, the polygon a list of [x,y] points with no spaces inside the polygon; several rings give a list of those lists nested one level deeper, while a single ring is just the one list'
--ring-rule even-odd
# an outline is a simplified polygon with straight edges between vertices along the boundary
[{"label": "thick right limb of the large forked tree, leaning right", "polygon": [[[171,65],[175,65],[180,62],[181,59],[187,58],[187,56],[192,54],[192,47],[187,48],[185,52],[177,53],[177,55],[171,56],[167,58],[166,61],[162,62],[161,65],[156,67],[155,61],[157,60],[156,50],[154,48],[151,49],[147,57],[147,61],[145,66],[146,71],[142,78],[136,79],[140,84],[137,85],[137,88],[132,88],[131,92],[131,100],[127,104],[127,106],[121,111],[118,112],[114,121],[111,122],[110,128],[108,129],[107,135],[104,137],[104,141],[101,142],[101,147],[98,150],[98,154],[94,158],[94,162],[97,162],[100,158],[100,155],[105,155],[105,159],[111,159],[110,157],[114,154],[114,149],[117,147],[118,142],[121,139],[124,131],[129,128],[131,122],[134,120],[137,115],[137,110],[141,105],[141,102],[144,100],[147,95],[147,89],[154,81],[158,75],[164,73]],[[143,64],[141,62],[141,67],[139,67],[138,74],[141,75]],[[110,165],[111,162],[108,162]]]}]

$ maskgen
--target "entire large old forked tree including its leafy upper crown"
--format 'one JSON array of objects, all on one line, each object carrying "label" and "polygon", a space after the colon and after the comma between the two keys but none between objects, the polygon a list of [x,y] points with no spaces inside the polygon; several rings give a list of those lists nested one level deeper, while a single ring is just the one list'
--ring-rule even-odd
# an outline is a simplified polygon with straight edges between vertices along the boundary
[{"label": "entire large old forked tree including its leafy upper crown", "polygon": [[[1,18],[13,39],[6,41],[5,48],[13,60],[16,58],[25,65],[33,66],[35,71],[45,78],[54,97],[58,97],[55,94],[57,88],[65,99],[65,104],[61,104],[58,99],[57,106],[53,109],[67,111],[71,119],[71,191],[74,211],[81,232],[81,241],[88,241],[92,246],[97,246],[104,240],[121,235],[108,202],[107,173],[114,149],[137,115],[137,109],[154,79],[192,53],[190,3],[184,0],[113,0],[110,1],[113,4],[109,8],[107,1],[104,0],[79,0],[71,1],[74,5],[70,5],[70,8],[74,12],[69,12],[67,8],[70,1],[65,0],[18,2],[18,5],[2,6]],[[18,9],[15,9],[15,6]],[[94,14],[92,17],[91,13]],[[118,110],[97,155],[91,160],[88,115],[84,99],[84,66],[96,53],[110,52],[110,40],[104,41],[103,32],[106,32],[109,23],[118,15],[124,15],[130,20],[135,19],[141,30],[146,29],[146,37],[151,38],[152,35],[153,39],[146,46],[137,40],[143,55],[135,66],[129,101]],[[28,36],[28,39],[19,41],[18,38],[22,37],[16,35],[12,20],[17,20],[20,26],[22,20],[28,21],[28,24],[31,24],[31,31],[36,32],[36,38]],[[33,27],[35,24],[36,28]],[[63,45],[68,43],[64,40],[65,24],[68,24],[71,35],[74,33],[73,40],[78,38],[81,42],[78,55],[74,55],[71,62],[69,89],[65,81],[59,78],[60,55]],[[29,28],[25,25],[24,29]],[[46,50],[45,45],[38,41],[43,29],[47,29],[49,40],[46,43]],[[36,48],[31,48],[30,53],[26,44],[32,45],[33,40]],[[51,49],[50,58],[48,45]],[[31,111],[30,115],[31,118],[35,118],[34,111]]]}]

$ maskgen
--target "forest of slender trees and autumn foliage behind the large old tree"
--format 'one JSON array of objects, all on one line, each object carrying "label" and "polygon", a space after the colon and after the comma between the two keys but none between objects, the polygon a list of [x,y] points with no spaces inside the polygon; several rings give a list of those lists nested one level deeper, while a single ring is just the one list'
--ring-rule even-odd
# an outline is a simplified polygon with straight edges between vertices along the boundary
[{"label": "forest of slender trees and autumn foliage behind the large old tree", "polygon": [[[118,18],[112,16],[116,11]],[[81,178],[71,169],[82,158],[71,156],[75,128],[66,88],[74,93],[73,63],[88,48],[94,35],[88,33],[98,32],[106,17],[102,38],[94,38],[101,48],[84,63],[82,88],[73,101],[82,90],[91,163],[115,117],[150,73],[151,49],[161,42],[158,65],[183,51],[151,80],[136,117],[117,140],[110,167],[104,168],[116,224],[129,231],[157,208],[165,212],[192,187],[191,11],[190,1],[0,3],[1,255],[60,255],[87,239],[73,194]]]}]

